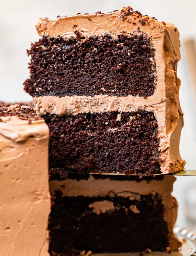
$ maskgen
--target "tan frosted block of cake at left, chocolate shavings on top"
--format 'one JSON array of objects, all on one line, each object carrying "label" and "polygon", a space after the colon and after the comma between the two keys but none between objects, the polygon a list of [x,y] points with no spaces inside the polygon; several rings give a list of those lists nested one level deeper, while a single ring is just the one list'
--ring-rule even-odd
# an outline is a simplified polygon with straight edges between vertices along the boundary
[{"label": "tan frosted block of cake at left, chocolate shavings on top", "polygon": [[30,105],[0,103],[1,255],[49,255],[49,130]]}]

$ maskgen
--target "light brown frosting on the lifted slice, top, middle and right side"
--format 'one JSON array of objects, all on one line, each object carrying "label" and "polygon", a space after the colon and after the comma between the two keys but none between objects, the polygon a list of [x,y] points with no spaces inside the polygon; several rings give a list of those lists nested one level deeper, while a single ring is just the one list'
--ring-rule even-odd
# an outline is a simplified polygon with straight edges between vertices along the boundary
[{"label": "light brown frosting on the lifted slice, top, middle and right side", "polygon": [[[138,27],[151,39],[155,49],[156,89],[149,97],[85,95],[40,96],[33,97],[36,111],[42,114],[77,115],[87,112],[119,111],[131,112],[139,109],[153,110],[159,125],[160,166],[163,173],[181,170],[185,161],[179,154],[180,132],[183,127],[183,113],[179,104],[179,87],[177,63],[180,60],[180,41],[177,28],[170,23],[158,22],[153,18],[130,12],[123,8],[121,12],[108,14],[75,15],[59,17],[57,20],[40,18],[36,25],[40,36],[76,37],[75,30],[81,37],[109,33],[112,37],[136,31]],[[82,39],[85,40],[85,39]],[[175,138],[175,139],[174,139]]]}]

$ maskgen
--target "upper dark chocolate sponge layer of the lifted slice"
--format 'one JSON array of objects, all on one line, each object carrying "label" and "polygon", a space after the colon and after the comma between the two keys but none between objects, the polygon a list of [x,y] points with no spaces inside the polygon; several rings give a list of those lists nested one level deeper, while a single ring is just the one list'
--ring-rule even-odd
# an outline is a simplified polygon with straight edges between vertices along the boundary
[{"label": "upper dark chocolate sponge layer of the lifted slice", "polygon": [[129,35],[77,38],[42,37],[27,51],[30,79],[24,82],[32,96],[139,95],[155,90],[154,48],[149,37]]}]

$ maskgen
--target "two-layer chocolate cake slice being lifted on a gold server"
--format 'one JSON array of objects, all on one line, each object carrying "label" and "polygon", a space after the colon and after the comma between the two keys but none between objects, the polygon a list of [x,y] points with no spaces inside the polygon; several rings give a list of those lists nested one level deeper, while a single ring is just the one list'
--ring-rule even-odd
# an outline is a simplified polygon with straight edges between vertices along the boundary
[{"label": "two-layer chocolate cake slice being lifted on a gold server", "polygon": [[40,18],[25,90],[50,129],[52,174],[181,170],[177,28],[134,12]]}]

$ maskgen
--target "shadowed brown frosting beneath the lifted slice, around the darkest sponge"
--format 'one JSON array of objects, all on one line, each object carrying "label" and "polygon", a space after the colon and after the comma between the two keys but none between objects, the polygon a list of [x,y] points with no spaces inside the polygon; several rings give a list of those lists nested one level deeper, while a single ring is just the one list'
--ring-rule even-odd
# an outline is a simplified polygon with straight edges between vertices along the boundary
[{"label": "shadowed brown frosting beneath the lifted slice, around the darkest sponge", "polygon": [[[163,180],[148,181],[117,181],[110,179],[97,179],[91,182],[86,180],[73,180],[67,179],[65,181],[50,181],[50,190],[53,195],[55,190],[62,191],[63,196],[69,197],[113,197],[114,194],[121,197],[130,197],[131,200],[140,199],[141,195],[150,193],[158,193],[162,198],[162,203],[165,206],[164,219],[168,224],[169,231],[169,247],[175,250],[181,246],[181,242],[173,233],[173,226],[177,218],[178,203],[174,197],[172,197],[173,182],[175,178],[173,176],[164,176]],[[94,205],[94,211],[100,213],[100,211],[106,211],[113,209],[113,205],[109,201],[99,201]],[[90,208],[92,205],[90,205]],[[134,205],[131,207],[132,211],[137,213],[137,208]]]}]

